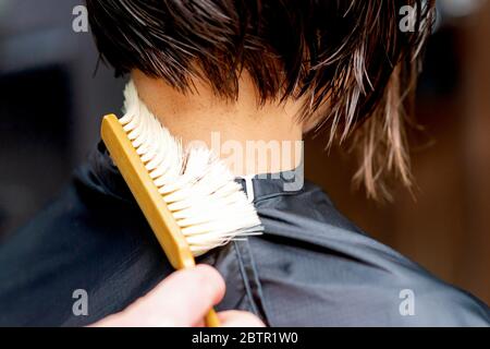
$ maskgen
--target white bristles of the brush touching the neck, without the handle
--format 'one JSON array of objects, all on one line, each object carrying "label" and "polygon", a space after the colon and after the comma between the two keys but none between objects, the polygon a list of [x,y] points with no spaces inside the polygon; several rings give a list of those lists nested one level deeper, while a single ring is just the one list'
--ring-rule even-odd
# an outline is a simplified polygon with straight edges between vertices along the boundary
[{"label": "white bristles of the brush touching the neck, without the handle", "polygon": [[262,231],[229,168],[206,147],[183,149],[139,99],[131,81],[120,119],[195,256]]}]

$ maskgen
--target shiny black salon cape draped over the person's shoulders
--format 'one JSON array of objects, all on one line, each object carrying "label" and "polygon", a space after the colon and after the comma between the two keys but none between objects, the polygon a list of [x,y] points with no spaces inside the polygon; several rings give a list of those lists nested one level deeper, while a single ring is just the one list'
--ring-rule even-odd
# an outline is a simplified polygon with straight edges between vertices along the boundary
[{"label": "shiny black salon cape draped over the person's shoulders", "polygon": [[[254,192],[266,232],[199,261],[226,280],[218,310],[247,310],[270,326],[490,324],[486,304],[364,234],[318,186],[292,192],[282,179],[259,179]],[[73,184],[0,246],[0,325],[87,325],[171,272],[99,145]],[[73,313],[78,289],[88,293],[87,316]]]}]

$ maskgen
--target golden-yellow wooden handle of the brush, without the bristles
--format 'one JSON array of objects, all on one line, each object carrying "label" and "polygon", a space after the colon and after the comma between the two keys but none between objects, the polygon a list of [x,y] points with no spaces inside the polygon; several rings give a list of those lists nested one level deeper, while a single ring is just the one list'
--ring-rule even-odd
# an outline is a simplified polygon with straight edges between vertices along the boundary
[{"label": "golden-yellow wooden handle of the brush, without the bristles", "polygon": [[[175,269],[194,267],[196,263],[181,228],[114,115],[103,118],[101,136],[172,266]],[[209,327],[220,326],[212,309],[205,321]]]}]

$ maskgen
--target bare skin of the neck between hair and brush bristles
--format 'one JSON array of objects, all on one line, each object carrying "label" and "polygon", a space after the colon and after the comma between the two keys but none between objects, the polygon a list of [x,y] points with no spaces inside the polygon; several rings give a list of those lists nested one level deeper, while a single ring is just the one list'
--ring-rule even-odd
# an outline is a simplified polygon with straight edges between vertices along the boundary
[{"label": "bare skin of the neck between hair and brush bristles", "polygon": [[247,74],[243,74],[238,98],[233,101],[216,96],[197,80],[193,92],[182,94],[140,71],[133,71],[132,77],[140,99],[174,136],[184,145],[204,142],[235,176],[274,173],[299,165],[303,125],[295,118],[299,103],[258,106]]}]

